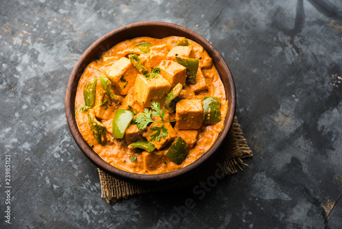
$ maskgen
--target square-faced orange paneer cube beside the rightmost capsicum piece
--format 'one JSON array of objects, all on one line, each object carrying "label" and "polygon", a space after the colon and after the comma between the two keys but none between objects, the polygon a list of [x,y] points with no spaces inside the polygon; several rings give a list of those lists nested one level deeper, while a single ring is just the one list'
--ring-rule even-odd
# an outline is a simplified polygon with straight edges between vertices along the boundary
[{"label": "square-faced orange paneer cube beside the rightmost capsicum piece", "polygon": [[182,99],[176,104],[176,127],[179,130],[199,129],[205,119],[202,99]]}]

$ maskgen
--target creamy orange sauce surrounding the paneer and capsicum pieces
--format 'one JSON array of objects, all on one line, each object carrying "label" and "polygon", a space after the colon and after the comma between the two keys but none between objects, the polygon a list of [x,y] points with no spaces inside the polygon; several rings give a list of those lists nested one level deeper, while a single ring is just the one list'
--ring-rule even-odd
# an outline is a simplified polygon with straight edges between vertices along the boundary
[{"label": "creamy orange sauce surrounding the paneer and capsicum pieces", "polygon": [[[160,163],[160,165],[158,165],[155,169],[146,169],[146,167],[142,165],[142,150],[128,149],[128,144],[124,138],[114,139],[110,132],[107,132],[106,145],[100,145],[96,142],[88,125],[87,112],[81,112],[79,110],[79,108],[81,108],[81,106],[84,106],[85,104],[83,97],[83,86],[84,84],[86,84],[87,80],[94,77],[100,77],[101,72],[107,71],[107,69],[111,67],[114,62],[131,53],[131,47],[134,47],[135,45],[140,43],[151,43],[150,51],[152,53],[159,52],[167,55],[170,49],[174,47],[174,43],[178,38],[179,37],[176,36],[171,36],[163,39],[140,37],[118,43],[118,45],[115,45],[108,51],[105,51],[102,54],[100,60],[96,60],[90,63],[79,80],[75,99],[76,121],[79,131],[81,132],[88,145],[90,145],[92,149],[94,149],[94,152],[96,152],[96,154],[101,156],[101,158],[103,158],[103,160],[105,160],[107,163],[113,165],[114,167],[117,167],[118,169],[129,171],[131,173],[159,174],[168,173],[170,171],[186,167],[187,165],[200,158],[203,153],[207,152],[207,150],[211,147],[211,145],[213,145],[216,138],[218,137],[218,134],[220,134],[223,128],[224,117],[226,117],[228,108],[228,101],[226,101],[224,86],[222,84],[222,81],[220,80],[218,72],[215,69],[215,66],[213,64],[210,64],[211,59],[209,58],[207,52],[200,45],[194,43],[192,40],[189,39],[189,43],[192,47],[192,53],[190,54],[189,58],[200,59],[198,71],[201,71],[202,76],[204,76],[206,90],[194,93],[194,91],[192,91],[192,88],[187,85],[182,91],[183,96],[185,96],[187,99],[202,99],[203,97],[207,96],[218,97],[220,99],[220,111],[222,114],[222,120],[219,123],[213,125],[203,124],[201,126],[194,147],[192,149],[189,149],[189,154],[187,158],[185,158],[185,160],[181,163],[181,165],[176,165],[170,160],[170,158],[163,156],[163,162]],[[101,89],[101,84],[98,80],[96,91],[101,91]],[[102,109],[101,114],[103,117],[105,117],[105,119],[99,119],[99,121],[101,121],[101,123],[111,124],[111,120],[114,117],[116,109],[123,108],[128,110],[128,105],[131,105],[133,110],[142,112],[143,109],[135,100],[133,92],[134,86],[129,90],[127,95],[122,95],[122,102],[120,104],[109,101],[108,104],[96,108],[98,109],[98,113],[100,112],[99,109]],[[94,106],[100,103],[101,99],[95,99]],[[105,107],[107,108],[105,109]],[[157,151],[157,149],[155,149],[155,151]],[[166,152],[166,149],[163,149],[160,152]],[[136,157],[137,160],[131,162],[131,156]]]}]

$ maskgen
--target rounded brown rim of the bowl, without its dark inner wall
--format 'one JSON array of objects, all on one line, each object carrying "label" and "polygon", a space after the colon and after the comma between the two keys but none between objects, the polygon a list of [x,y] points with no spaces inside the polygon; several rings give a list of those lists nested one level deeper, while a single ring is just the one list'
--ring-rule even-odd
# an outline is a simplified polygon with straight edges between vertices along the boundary
[{"label": "rounded brown rim of the bowl, without its dark inner wall", "polygon": [[[102,53],[102,51],[107,51],[111,47],[107,47],[103,45],[109,38],[112,38],[114,36],[120,35],[120,33],[125,32],[128,30],[134,31],[135,29],[141,29],[142,27],[159,27],[159,29],[162,28],[170,28],[177,30],[180,34],[185,34],[185,37],[194,40],[196,43],[201,45],[209,54],[209,56],[213,59],[213,63],[215,64],[216,69],[218,69],[218,64],[220,65],[220,69],[224,73],[226,73],[227,77],[222,78],[222,75],[220,74],[219,70],[218,73],[220,75],[220,79],[222,80],[222,83],[224,84],[224,88],[226,91],[226,95],[231,94],[231,109],[228,109],[226,113],[226,117],[224,120],[224,127],[222,131],[220,132],[218,138],[216,138],[213,145],[209,148],[209,150],[205,153],[203,153],[200,158],[198,158],[196,161],[192,162],[190,165],[187,165],[186,167],[183,167],[181,169],[177,169],[175,171],[171,171],[168,173],[161,173],[161,174],[139,174],[139,173],[131,173],[129,171],[124,171],[121,169],[118,169],[112,165],[109,165],[105,160],[103,160],[96,152],[92,150],[92,148],[86,143],[86,141],[81,136],[81,132],[79,132],[79,128],[77,126],[77,122],[75,119],[75,96],[73,97],[73,94],[76,95],[77,86],[79,82],[79,77],[83,74],[84,69],[88,66],[88,64],[94,60],[94,58],[88,58],[89,56],[96,56],[97,57]],[[140,35],[137,34],[139,37]],[[169,35],[169,36],[179,36],[177,34]],[[152,36],[151,36],[152,37]],[[163,36],[167,37],[167,36]],[[124,41],[127,39],[123,39],[121,41]],[[120,42],[120,41],[119,41]],[[117,44],[117,43],[116,43]],[[101,48],[100,53],[95,53],[98,51],[98,47]],[[107,50],[105,50],[107,49]],[[81,69],[81,70],[80,70]],[[221,71],[221,70],[220,70]],[[77,79],[78,77],[78,79]],[[75,80],[75,78],[77,80]],[[225,81],[225,82],[224,82]],[[76,84],[76,85],[75,85]],[[227,91],[226,86],[230,86],[230,91]],[[229,105],[228,105],[229,107]],[[77,143],[79,149],[81,149],[81,152],[98,167],[99,169],[102,169],[103,171],[109,173],[111,176],[114,176],[116,178],[120,178],[122,180],[128,180],[128,181],[161,181],[161,180],[171,180],[174,178],[179,178],[180,176],[184,175],[185,173],[188,173],[189,171],[194,170],[195,168],[199,167],[203,164],[210,156],[212,156],[220,147],[222,144],[222,141],[224,141],[224,138],[226,137],[226,134],[228,133],[228,130],[231,129],[231,126],[233,125],[233,119],[235,117],[235,108],[236,108],[236,94],[235,94],[235,83],[233,80],[233,75],[226,64],[224,58],[221,56],[219,51],[213,47],[209,41],[207,41],[205,38],[197,34],[196,32],[192,31],[191,29],[187,29],[186,27],[183,27],[181,25],[176,25],[173,23],[166,23],[166,22],[160,22],[160,21],[145,21],[145,22],[139,22],[139,23],[132,23],[129,25],[124,25],[122,27],[119,27],[117,29],[112,30],[111,32],[105,34],[101,38],[98,38],[86,51],[82,54],[82,56],[79,58],[77,63],[75,64],[75,67],[73,68],[73,71],[70,74],[68,84],[66,86],[66,97],[65,97],[65,110],[66,110],[66,119],[68,123],[69,130]]]}]

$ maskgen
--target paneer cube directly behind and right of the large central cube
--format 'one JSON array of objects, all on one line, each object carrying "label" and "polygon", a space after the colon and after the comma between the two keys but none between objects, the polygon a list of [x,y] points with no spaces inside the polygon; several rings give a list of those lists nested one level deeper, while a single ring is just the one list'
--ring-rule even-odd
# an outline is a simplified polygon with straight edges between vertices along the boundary
[{"label": "paneer cube directly behind and right of the large central cube", "polygon": [[163,60],[159,64],[160,74],[171,84],[173,88],[176,84],[181,83],[185,86],[187,80],[187,69],[177,62],[172,60]]}]

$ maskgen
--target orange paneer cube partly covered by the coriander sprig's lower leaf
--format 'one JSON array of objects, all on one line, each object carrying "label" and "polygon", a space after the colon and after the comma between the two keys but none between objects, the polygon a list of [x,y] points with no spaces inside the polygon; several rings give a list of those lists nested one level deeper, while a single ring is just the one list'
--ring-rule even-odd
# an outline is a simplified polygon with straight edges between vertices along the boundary
[{"label": "orange paneer cube partly covered by the coriander sprig's lower leaf", "polygon": [[[148,127],[147,131],[144,133],[144,137],[146,137],[146,139],[150,141],[150,135],[155,134],[156,132],[156,131],[150,130],[150,128],[153,128],[154,126],[161,127],[161,125],[163,125],[163,123],[152,123]],[[168,130],[168,136],[166,136],[166,138],[160,138],[159,141],[157,141],[157,139],[155,141],[152,141],[153,145],[155,145],[157,149],[163,149],[167,147],[177,137],[177,133],[174,131],[170,123],[164,123],[164,127]]]}]

